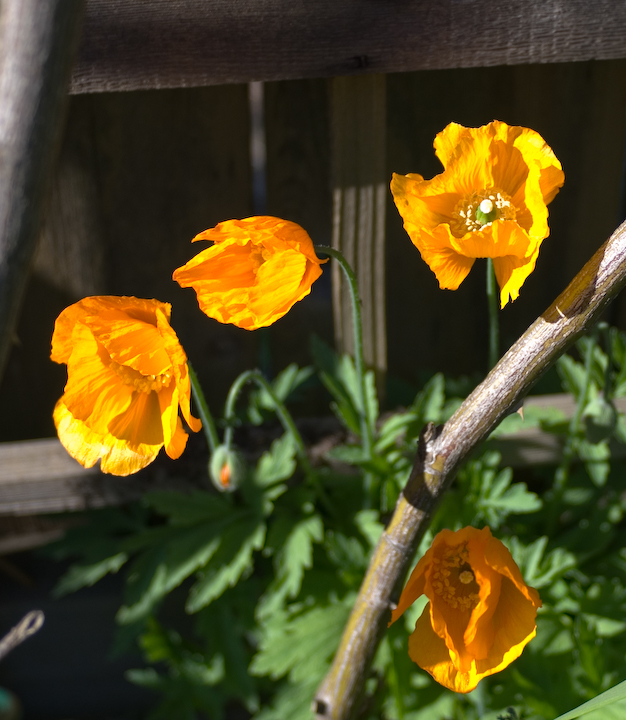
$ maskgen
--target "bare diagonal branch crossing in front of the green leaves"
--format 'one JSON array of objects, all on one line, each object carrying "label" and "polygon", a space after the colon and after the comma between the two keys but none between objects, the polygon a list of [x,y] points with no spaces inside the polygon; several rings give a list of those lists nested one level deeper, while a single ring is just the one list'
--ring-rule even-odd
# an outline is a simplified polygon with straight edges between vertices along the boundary
[{"label": "bare diagonal branch crossing in front of the green leaves", "polygon": [[518,405],[539,377],[626,284],[626,223],[504,355],[440,428],[420,438],[411,477],[378,543],[313,710],[318,720],[349,720],[358,710],[393,600],[433,512],[469,452]]}]

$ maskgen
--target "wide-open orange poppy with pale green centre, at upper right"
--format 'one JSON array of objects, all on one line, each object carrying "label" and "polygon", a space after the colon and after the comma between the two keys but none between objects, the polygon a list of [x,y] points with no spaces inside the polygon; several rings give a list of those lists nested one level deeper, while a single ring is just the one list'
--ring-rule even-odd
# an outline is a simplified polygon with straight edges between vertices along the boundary
[{"label": "wide-open orange poppy with pale green centre, at upper right", "polygon": [[393,175],[404,229],[447,290],[459,287],[476,258],[492,258],[504,307],[550,233],[547,205],[565,180],[561,163],[534,130],[498,120],[480,128],[450,123],[434,147],[443,173]]}]

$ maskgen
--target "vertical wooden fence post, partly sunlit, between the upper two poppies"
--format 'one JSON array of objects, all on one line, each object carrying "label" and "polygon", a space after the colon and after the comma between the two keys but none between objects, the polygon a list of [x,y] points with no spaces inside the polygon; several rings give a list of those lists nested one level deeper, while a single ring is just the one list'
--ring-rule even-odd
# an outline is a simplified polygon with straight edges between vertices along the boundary
[{"label": "vertical wooden fence post, partly sunlit, between the upper two poppies", "polygon": [[[384,75],[331,81],[333,247],[344,254],[359,282],[365,362],[387,367],[385,328],[386,84]],[[350,296],[333,266],[335,342],[352,354]],[[379,383],[379,387],[382,383]]]}]

